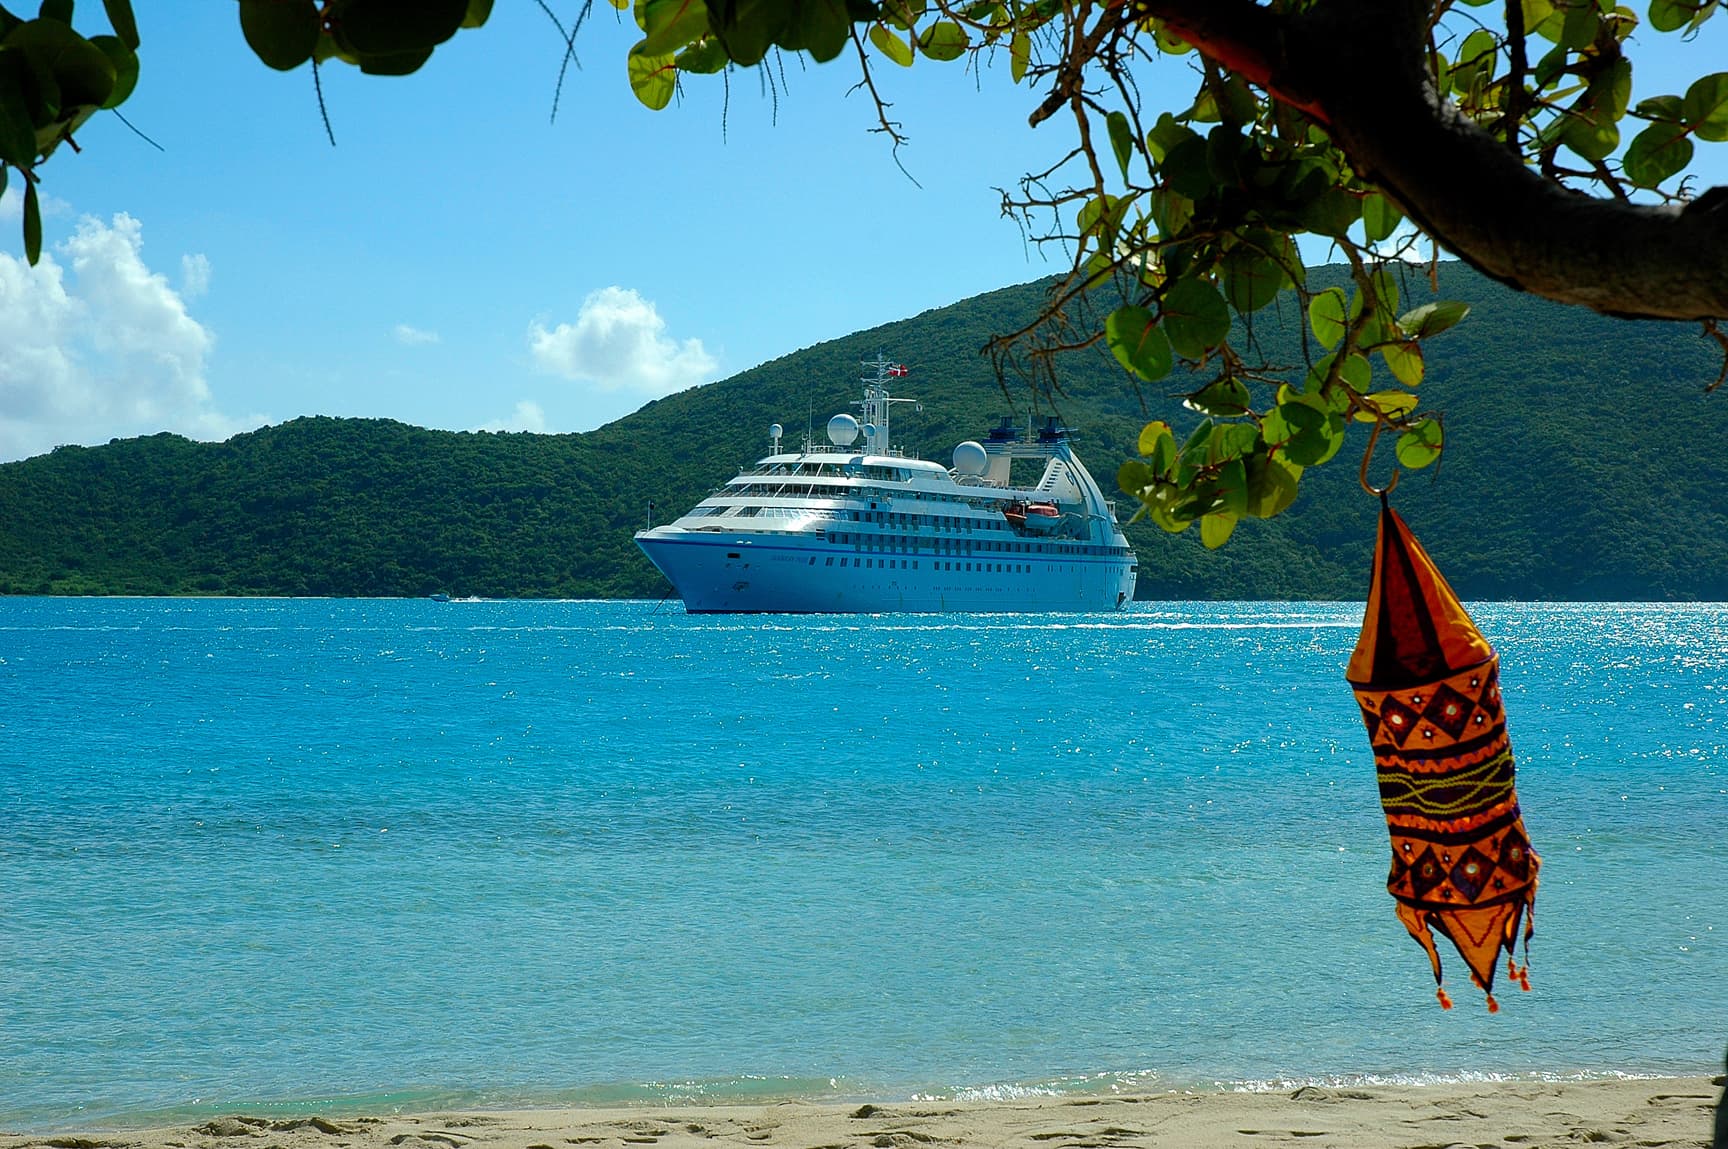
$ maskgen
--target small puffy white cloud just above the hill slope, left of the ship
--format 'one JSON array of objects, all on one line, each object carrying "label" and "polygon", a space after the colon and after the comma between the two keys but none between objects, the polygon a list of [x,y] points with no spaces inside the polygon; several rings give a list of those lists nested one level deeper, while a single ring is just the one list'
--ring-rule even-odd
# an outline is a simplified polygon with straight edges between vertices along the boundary
[{"label": "small puffy white cloud just above the hill slope, left of the ship", "polygon": [[627,287],[593,292],[575,323],[548,330],[536,320],[529,325],[529,351],[543,371],[643,397],[695,387],[719,366],[700,339],[667,339],[653,302]]}]

